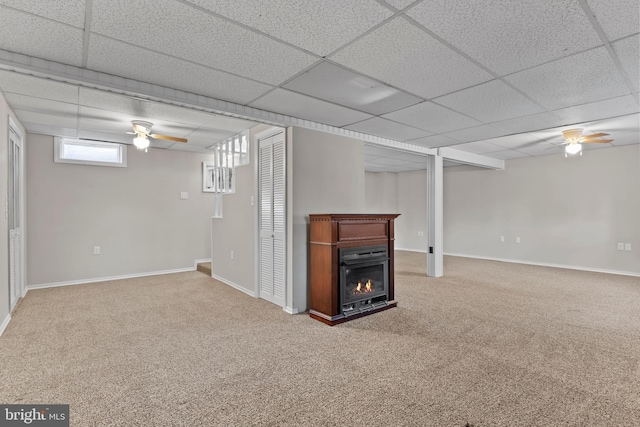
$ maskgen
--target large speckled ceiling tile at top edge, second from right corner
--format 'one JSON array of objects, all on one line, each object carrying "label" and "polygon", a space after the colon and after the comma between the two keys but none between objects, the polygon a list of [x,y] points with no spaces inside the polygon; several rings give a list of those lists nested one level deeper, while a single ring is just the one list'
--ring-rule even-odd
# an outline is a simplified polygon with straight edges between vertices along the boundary
[{"label": "large speckled ceiling tile at top edge, second from right corner", "polygon": [[430,0],[407,14],[499,75],[602,44],[577,1]]}]

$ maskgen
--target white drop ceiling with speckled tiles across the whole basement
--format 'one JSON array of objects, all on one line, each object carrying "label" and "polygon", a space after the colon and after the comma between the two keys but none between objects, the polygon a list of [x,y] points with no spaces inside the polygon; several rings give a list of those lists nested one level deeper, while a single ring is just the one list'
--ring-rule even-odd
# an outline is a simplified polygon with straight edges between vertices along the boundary
[{"label": "white drop ceiling with speckled tiles across the whole basement", "polygon": [[[418,148],[560,155],[572,127],[614,140],[587,150],[640,143],[639,17],[637,0],[0,0],[0,90],[30,132],[130,144],[131,120],[143,119],[189,139],[152,143],[170,150],[206,152],[256,117],[33,67],[90,70],[123,88],[137,81]],[[366,146],[370,171],[424,163]]]}]

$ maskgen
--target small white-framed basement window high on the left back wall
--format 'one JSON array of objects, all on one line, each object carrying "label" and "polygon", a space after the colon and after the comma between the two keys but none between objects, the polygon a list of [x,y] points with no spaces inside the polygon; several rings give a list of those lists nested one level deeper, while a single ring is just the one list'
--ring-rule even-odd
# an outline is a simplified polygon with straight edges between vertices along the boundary
[{"label": "small white-framed basement window high on the left back wall", "polygon": [[127,146],[86,139],[54,139],[54,161],[80,165],[127,167]]}]

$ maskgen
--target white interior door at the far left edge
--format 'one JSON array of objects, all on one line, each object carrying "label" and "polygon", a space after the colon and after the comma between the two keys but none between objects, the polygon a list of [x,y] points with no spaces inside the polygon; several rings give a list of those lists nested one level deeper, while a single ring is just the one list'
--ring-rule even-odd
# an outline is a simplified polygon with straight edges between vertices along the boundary
[{"label": "white interior door at the far left edge", "polygon": [[9,126],[9,303],[13,310],[22,295],[22,138]]}]

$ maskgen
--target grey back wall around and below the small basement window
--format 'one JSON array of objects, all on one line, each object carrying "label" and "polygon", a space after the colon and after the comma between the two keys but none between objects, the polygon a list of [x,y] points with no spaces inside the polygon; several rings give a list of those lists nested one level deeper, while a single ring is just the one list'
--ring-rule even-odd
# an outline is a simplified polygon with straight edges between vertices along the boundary
[{"label": "grey back wall around and below the small basement window", "polygon": [[202,192],[210,156],[128,146],[126,168],[63,164],[53,162],[53,137],[27,139],[28,285],[192,268],[211,257],[214,197]]}]

